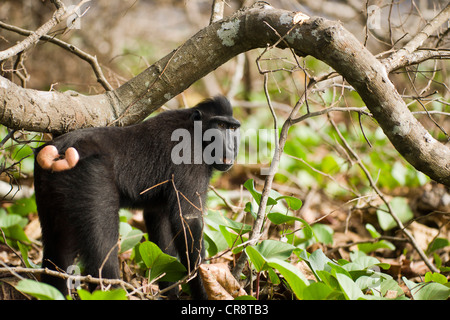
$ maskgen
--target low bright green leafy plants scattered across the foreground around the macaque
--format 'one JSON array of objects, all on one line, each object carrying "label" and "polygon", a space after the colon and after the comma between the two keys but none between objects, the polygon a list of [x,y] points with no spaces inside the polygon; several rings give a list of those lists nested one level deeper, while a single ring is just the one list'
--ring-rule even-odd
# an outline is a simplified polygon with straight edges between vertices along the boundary
[{"label": "low bright green leafy plants scattered across the foreground around the macaque", "polygon": [[[247,181],[245,186],[253,198],[253,202],[246,204],[245,211],[254,218],[258,211],[257,201],[260,201],[261,193],[255,189],[252,180]],[[305,300],[387,299],[388,292],[395,292],[395,299],[408,299],[397,281],[383,272],[389,268],[389,265],[367,255],[380,248],[394,249],[392,243],[377,240],[381,235],[374,226],[366,225],[374,242],[359,244],[358,251],[351,254],[350,261],[344,259],[333,261],[326,257],[320,249],[313,253],[305,250],[314,242],[332,244],[333,231],[327,225],[320,223],[309,225],[304,219],[294,216],[292,210],[301,208],[300,200],[271,192],[268,204],[266,217],[272,224],[292,226],[294,222],[300,222],[302,226],[301,230],[295,233],[300,236],[294,236],[294,233],[285,236],[282,233],[281,239],[288,242],[263,240],[254,246],[245,248],[252,268],[258,273],[267,274],[272,285],[284,282],[297,299]],[[410,219],[410,211],[403,198],[394,198],[391,205],[402,220]],[[35,210],[33,198],[17,201],[8,210],[0,209],[0,227],[5,232],[7,241],[19,248],[26,266],[32,268],[37,266],[28,259],[29,246],[26,243],[29,243],[29,240],[26,238],[23,228],[28,222],[25,217]],[[385,212],[380,209],[377,213],[380,225],[390,228],[392,223],[389,222],[387,215],[383,215]],[[121,252],[132,249],[135,262],[147,270],[149,280],[160,276],[159,280],[181,280],[186,275],[184,266],[176,258],[164,254],[154,243],[141,242],[144,235],[126,222],[129,217],[129,212],[121,212]],[[236,222],[220,211],[209,211],[205,216],[205,222],[207,223],[205,242],[210,255],[227,248],[232,249],[234,253],[243,250],[243,246],[239,246],[239,244],[247,240],[245,235],[251,230],[249,224]],[[448,239],[436,238],[430,243],[428,253],[431,254],[448,245]],[[314,275],[314,280],[306,278],[295,266],[300,261],[304,261],[309,267]],[[408,287],[412,299],[445,300],[449,298],[450,285],[442,274],[429,272],[425,275],[424,282],[421,283],[412,282],[405,277],[402,280]],[[40,300],[64,299],[55,288],[33,280],[22,280],[16,288]],[[78,289],[78,295],[82,300],[127,299],[126,291],[123,289],[93,293]],[[254,299],[249,296],[244,298]]]}]

